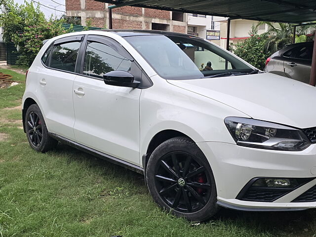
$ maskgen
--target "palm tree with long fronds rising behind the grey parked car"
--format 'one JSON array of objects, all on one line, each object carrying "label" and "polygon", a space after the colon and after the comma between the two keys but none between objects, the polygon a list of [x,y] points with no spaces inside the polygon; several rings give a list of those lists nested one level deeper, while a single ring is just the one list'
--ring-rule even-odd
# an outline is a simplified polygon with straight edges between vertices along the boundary
[{"label": "palm tree with long fronds rising behind the grey parked car", "polygon": [[[270,35],[265,42],[264,48],[266,51],[270,50],[271,53],[285,47],[286,44],[292,43],[294,24],[289,23],[271,23],[261,21],[256,28],[261,25],[268,25],[268,34]],[[311,28],[315,25],[301,26],[296,28],[295,43],[306,42],[307,36]]]}]

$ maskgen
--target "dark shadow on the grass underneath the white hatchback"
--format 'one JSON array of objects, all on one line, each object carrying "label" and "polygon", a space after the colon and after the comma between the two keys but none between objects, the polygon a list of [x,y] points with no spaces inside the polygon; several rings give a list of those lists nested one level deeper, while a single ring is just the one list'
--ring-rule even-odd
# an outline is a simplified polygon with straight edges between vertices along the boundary
[{"label": "dark shadow on the grass underneath the white hatchback", "polygon": [[[144,176],[134,171],[60,143],[54,151],[54,155],[58,153],[66,154],[69,162],[84,162],[87,165],[86,168],[90,169],[91,172],[95,172],[100,167],[106,167],[106,170],[114,172],[120,181],[133,185],[138,189],[138,192],[147,190]],[[246,212],[221,208],[218,214],[205,224],[208,225],[213,222],[224,222],[227,225],[234,224],[240,228],[257,229],[273,236],[313,237],[316,231],[316,210]]]}]

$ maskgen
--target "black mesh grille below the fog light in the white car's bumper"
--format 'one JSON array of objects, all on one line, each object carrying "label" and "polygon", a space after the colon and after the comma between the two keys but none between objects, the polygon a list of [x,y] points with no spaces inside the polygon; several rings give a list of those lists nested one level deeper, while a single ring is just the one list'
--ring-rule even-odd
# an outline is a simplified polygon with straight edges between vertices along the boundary
[{"label": "black mesh grille below the fog light in the white car's bumper", "polygon": [[276,189],[276,188],[250,188],[240,198],[244,201],[275,201],[277,198],[284,196],[291,192],[288,189]]}]

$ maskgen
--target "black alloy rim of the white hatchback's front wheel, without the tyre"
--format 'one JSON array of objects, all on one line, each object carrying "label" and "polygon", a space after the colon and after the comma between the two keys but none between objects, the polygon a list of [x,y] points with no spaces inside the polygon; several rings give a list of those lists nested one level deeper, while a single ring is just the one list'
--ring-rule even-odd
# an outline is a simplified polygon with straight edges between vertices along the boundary
[{"label": "black alloy rim of the white hatchback's front wheel, without the tyre", "polygon": [[155,172],[161,198],[180,212],[195,212],[211,195],[210,177],[192,155],[176,151],[163,156]]}]

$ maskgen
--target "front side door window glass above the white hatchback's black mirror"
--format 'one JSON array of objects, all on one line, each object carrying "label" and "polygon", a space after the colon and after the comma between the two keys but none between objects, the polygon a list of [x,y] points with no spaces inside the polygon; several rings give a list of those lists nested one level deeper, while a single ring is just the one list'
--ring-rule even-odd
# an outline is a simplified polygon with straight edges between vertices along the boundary
[{"label": "front side door window glass above the white hatchback's black mirror", "polygon": [[83,74],[102,78],[103,74],[117,70],[130,72],[131,61],[106,44],[88,41]]}]

